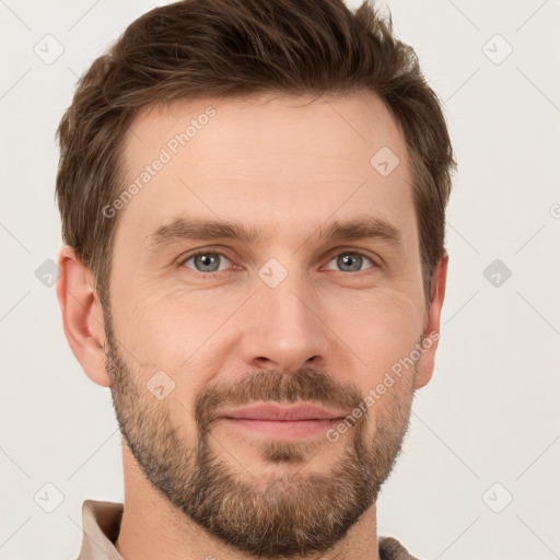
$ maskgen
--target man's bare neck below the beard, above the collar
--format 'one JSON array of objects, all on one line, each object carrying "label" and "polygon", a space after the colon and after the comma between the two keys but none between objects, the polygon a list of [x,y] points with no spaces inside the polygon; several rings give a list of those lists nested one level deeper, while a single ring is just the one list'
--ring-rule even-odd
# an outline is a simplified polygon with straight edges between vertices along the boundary
[{"label": "man's bare neck below the beard, above the collar", "polygon": [[[125,509],[115,547],[125,560],[254,560],[254,557],[229,547],[207,533],[155,490],[126,444],[122,445],[122,464]],[[298,560],[380,560],[377,547],[373,504],[330,550],[307,557],[298,556]]]}]

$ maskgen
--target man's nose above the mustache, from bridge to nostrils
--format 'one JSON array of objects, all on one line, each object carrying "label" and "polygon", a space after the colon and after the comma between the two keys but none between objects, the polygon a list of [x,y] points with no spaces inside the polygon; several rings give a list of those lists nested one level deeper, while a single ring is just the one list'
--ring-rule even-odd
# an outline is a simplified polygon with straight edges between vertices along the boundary
[{"label": "man's nose above the mustache, from bridge to nostrils", "polygon": [[320,318],[320,302],[312,285],[294,275],[276,288],[257,282],[249,303],[244,310],[242,341],[247,365],[282,373],[325,365],[329,330]]}]

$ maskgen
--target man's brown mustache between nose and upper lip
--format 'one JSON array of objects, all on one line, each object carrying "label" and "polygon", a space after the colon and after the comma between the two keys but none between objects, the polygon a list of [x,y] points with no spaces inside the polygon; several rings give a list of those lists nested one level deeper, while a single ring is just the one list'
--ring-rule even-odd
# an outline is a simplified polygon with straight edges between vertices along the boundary
[{"label": "man's brown mustache between nose and upper lip", "polygon": [[362,395],[354,384],[340,384],[325,372],[308,368],[293,374],[261,370],[240,377],[231,386],[223,380],[207,386],[195,402],[195,419],[206,431],[225,406],[244,406],[254,401],[312,401],[330,408],[352,410]]}]

